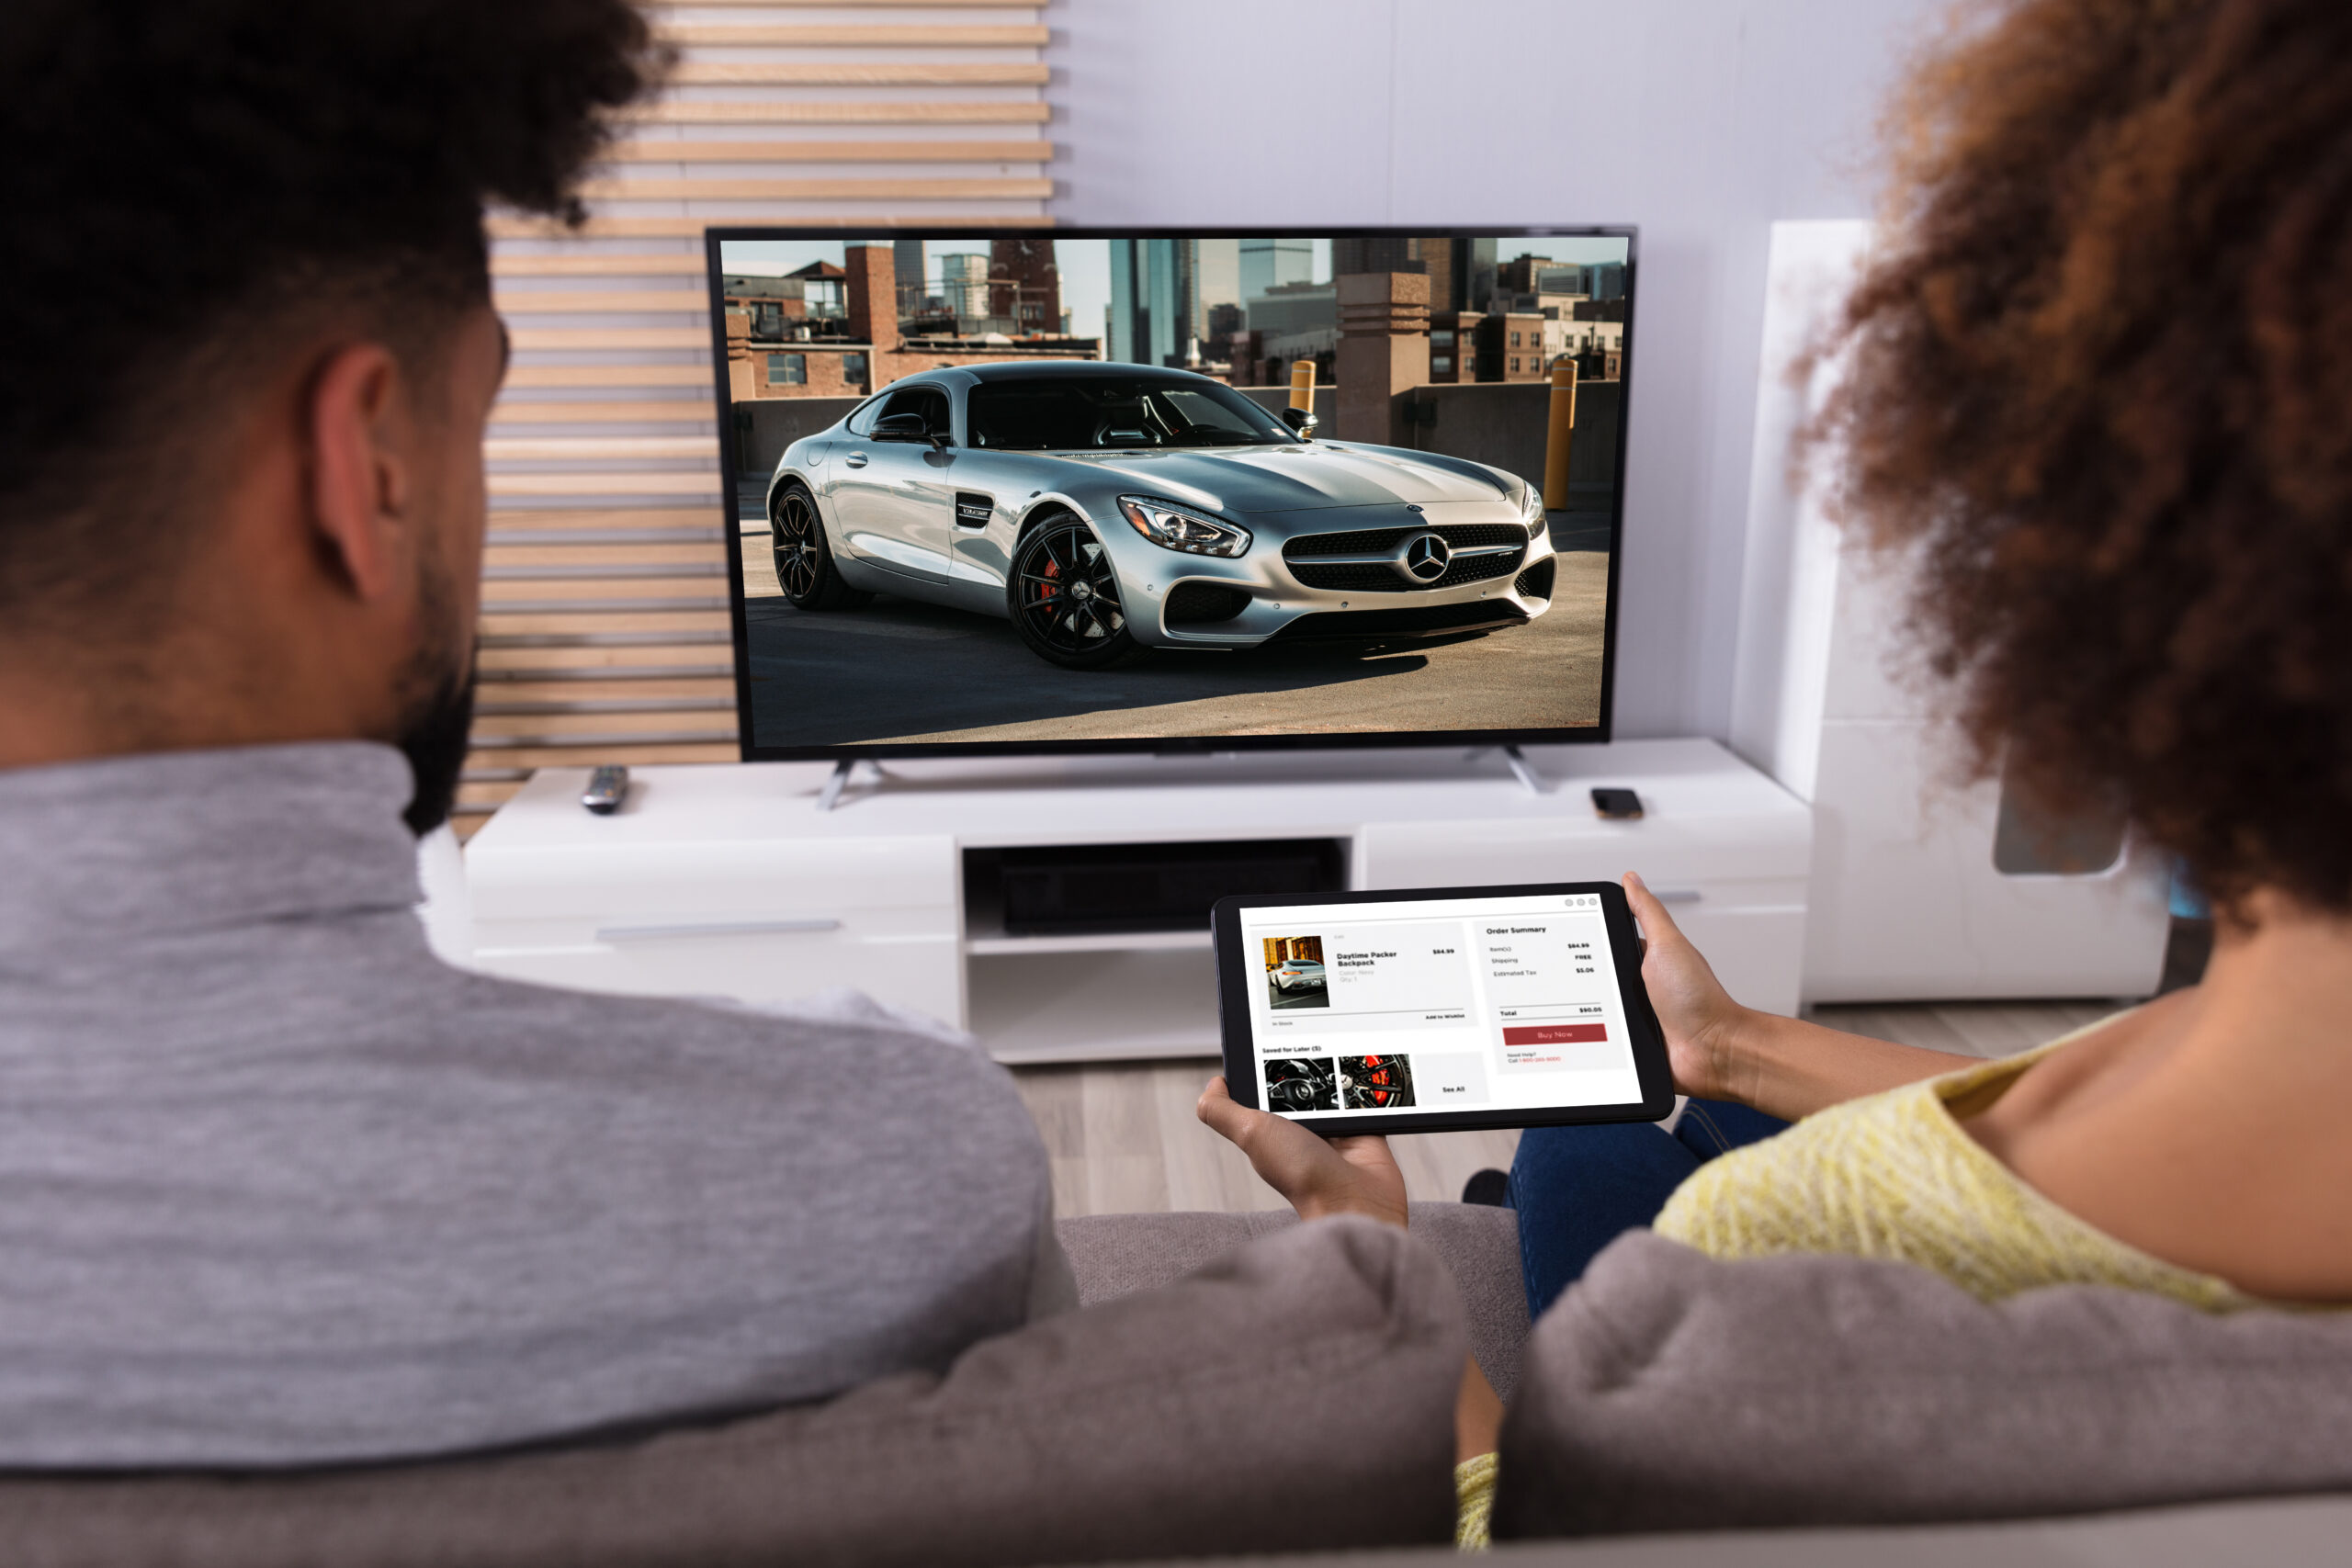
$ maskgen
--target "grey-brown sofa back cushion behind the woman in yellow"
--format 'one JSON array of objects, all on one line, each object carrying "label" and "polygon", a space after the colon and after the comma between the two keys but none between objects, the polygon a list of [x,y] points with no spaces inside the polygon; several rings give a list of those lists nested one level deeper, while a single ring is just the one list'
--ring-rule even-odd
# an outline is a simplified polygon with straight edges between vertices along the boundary
[{"label": "grey-brown sofa back cushion behind the woman in yellow", "polygon": [[1632,1232],[1536,1324],[1498,1537],[2020,1519],[2352,1490],[2352,1314]]}]

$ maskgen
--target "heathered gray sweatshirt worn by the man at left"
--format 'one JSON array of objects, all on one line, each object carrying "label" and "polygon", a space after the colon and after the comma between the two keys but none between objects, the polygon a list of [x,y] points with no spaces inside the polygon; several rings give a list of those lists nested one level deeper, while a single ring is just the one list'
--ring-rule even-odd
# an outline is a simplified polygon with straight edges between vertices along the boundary
[{"label": "heathered gray sweatshirt worn by the man at left", "polygon": [[1000,1067],[449,969],[407,797],[355,743],[0,771],[0,1469],[739,1413],[1065,1300]]}]

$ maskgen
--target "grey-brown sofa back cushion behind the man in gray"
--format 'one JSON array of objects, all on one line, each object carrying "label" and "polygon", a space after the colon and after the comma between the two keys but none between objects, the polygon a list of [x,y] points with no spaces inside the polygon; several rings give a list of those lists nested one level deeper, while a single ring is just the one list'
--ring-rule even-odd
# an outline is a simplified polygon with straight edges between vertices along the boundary
[{"label": "grey-brown sofa back cushion behind the man in gray", "polygon": [[407,1467],[0,1481],[14,1568],[1068,1563],[1442,1542],[1442,1265],[1305,1225],[823,1406]]}]

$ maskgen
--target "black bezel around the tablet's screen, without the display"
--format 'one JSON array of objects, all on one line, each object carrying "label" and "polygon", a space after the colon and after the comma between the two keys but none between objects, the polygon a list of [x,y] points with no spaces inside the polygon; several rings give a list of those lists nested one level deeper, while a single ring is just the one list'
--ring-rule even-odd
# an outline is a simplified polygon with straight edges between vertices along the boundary
[{"label": "black bezel around the tablet's screen, without the display", "polygon": [[[1237,1105],[1263,1110],[1258,1086],[1258,1063],[1251,1039],[1251,985],[1256,971],[1244,964],[1242,910],[1279,907],[1327,907],[1336,903],[1463,903],[1472,898],[1552,898],[1569,893],[1599,893],[1602,922],[1609,929],[1609,957],[1616,969],[1618,1004],[1625,1027],[1632,1034],[1635,1081],[1642,1086],[1637,1103],[1621,1105],[1512,1105],[1489,1110],[1395,1110],[1367,1112],[1362,1117],[1315,1117],[1298,1126],[1343,1138],[1350,1133],[1465,1133],[1482,1128],[1522,1126],[1590,1126],[1599,1121],[1663,1121],[1675,1110],[1675,1074],[1665,1060],[1665,1032],[1658,1013],[1649,1006],[1649,990],[1642,985],[1642,933],[1625,903],[1625,889],[1616,882],[1531,882],[1517,886],[1472,889],[1378,889],[1364,893],[1310,893],[1301,896],[1251,896],[1221,898],[1209,912],[1211,947],[1216,952],[1216,1023],[1225,1053],[1225,1091]],[[1279,1112],[1275,1112],[1279,1114]],[[1291,1117],[1296,1121],[1296,1117]]]}]

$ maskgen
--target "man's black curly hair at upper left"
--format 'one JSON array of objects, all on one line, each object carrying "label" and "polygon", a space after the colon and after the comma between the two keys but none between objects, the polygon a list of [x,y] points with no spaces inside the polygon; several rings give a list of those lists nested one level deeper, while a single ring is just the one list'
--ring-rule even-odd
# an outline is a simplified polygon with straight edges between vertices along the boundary
[{"label": "man's black curly hair at upper left", "polygon": [[485,202],[576,221],[663,66],[628,0],[0,7],[0,614],[169,552],[191,433],[294,324],[430,355],[489,299]]}]

